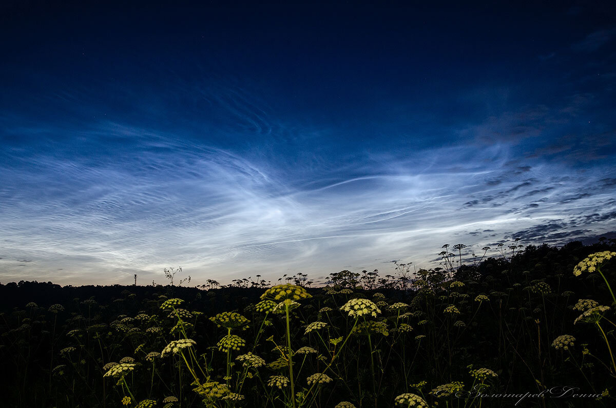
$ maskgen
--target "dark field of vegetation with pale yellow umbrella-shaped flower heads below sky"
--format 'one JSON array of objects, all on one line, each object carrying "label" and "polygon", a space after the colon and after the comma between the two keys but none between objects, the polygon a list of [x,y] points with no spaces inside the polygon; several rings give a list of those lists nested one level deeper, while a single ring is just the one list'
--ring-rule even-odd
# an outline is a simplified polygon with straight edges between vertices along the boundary
[{"label": "dark field of vegetation with pale yellow umbrella-shaped flower heads below sky", "polygon": [[324,288],[0,285],[0,406],[616,406],[614,240],[444,248]]}]

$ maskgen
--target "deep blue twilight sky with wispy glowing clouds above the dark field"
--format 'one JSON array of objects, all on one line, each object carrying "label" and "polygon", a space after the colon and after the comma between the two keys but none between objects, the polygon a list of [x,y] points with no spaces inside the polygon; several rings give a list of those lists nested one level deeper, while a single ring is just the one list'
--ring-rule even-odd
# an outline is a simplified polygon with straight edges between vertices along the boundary
[{"label": "deep blue twilight sky with wispy glowing clouds above the dark field", "polygon": [[613,1],[2,3],[2,284],[615,236]]}]

